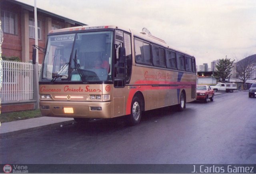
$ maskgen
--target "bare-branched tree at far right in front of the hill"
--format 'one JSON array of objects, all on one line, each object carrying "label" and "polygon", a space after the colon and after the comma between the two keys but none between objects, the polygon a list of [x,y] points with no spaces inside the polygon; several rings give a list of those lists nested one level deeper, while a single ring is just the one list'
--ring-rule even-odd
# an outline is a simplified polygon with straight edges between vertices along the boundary
[{"label": "bare-branched tree at far right in front of the hill", "polygon": [[256,55],[244,56],[246,58],[238,60],[236,59],[236,72],[237,78],[244,83],[244,89],[246,89],[246,80],[250,78],[250,75],[253,71],[252,63],[255,63]]}]

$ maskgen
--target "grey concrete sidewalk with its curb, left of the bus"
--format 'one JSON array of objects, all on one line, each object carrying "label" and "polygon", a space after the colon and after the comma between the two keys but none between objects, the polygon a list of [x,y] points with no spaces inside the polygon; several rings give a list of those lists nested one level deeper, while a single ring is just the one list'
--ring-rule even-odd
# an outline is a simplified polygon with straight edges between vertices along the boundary
[{"label": "grey concrete sidewalk with its curb, left of the bus", "polygon": [[34,119],[1,123],[0,138],[7,138],[14,135],[17,136],[26,132],[45,130],[51,127],[60,127],[61,125],[64,126],[72,123],[74,123],[73,118],[61,117],[38,117]]}]

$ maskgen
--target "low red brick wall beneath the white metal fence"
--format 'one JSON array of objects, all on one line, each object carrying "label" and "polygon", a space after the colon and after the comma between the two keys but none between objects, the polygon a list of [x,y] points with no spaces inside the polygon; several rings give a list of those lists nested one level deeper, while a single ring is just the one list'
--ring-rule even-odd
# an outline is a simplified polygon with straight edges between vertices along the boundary
[{"label": "low red brick wall beneath the white metal fence", "polygon": [[1,113],[26,111],[34,109],[34,103],[4,104],[1,105]]}]

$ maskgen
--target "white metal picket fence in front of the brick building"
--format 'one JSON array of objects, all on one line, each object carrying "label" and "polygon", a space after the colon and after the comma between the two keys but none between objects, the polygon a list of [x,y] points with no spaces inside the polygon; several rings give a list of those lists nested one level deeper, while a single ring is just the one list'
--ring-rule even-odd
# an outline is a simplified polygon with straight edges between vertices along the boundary
[{"label": "white metal picket fence in front of the brick building", "polygon": [[[41,65],[38,65],[40,71]],[[27,62],[2,61],[1,102],[32,100],[33,65]]]}]

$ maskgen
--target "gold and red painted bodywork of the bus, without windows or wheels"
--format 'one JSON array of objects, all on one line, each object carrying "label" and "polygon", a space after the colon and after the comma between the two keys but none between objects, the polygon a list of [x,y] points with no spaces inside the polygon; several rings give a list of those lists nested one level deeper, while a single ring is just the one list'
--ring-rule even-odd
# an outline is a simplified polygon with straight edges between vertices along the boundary
[{"label": "gold and red painted bodywork of the bus, without windows or wheels", "polygon": [[[88,26],[61,29],[51,33],[86,30],[83,29],[86,27]],[[117,27],[108,26],[108,28]],[[152,67],[135,62],[134,36],[167,48],[168,45],[164,41],[147,34],[131,32],[128,29],[124,31],[131,33],[133,50],[132,75],[129,84],[122,88],[115,88],[113,84],[40,84],[40,95],[51,96],[50,99],[40,99],[43,116],[105,119],[129,115],[132,99],[138,94],[142,96],[144,111],[177,105],[182,92],[186,95],[186,102],[196,100],[196,73]],[[90,99],[90,95],[109,95],[109,99],[105,101]],[[102,109],[97,111],[91,109],[92,107]],[[68,110],[71,108],[72,111]]]}]

